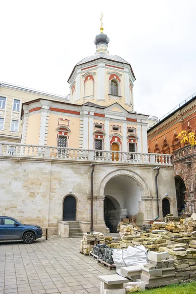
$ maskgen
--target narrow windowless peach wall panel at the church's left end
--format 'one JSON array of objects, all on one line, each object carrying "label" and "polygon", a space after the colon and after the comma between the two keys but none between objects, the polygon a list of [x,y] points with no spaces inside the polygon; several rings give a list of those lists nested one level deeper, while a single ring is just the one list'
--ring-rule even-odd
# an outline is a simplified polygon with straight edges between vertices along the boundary
[{"label": "narrow windowless peach wall panel at the church's left end", "polygon": [[28,117],[26,144],[38,145],[40,135],[41,113],[32,114]]}]

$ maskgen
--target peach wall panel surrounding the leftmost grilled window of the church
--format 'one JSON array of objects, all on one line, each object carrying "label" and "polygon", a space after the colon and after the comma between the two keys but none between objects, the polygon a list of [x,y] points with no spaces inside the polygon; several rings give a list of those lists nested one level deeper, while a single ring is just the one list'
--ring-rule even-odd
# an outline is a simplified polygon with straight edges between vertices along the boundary
[{"label": "peach wall panel surrounding the leftmost grilled window of the church", "polygon": [[[69,133],[69,142],[68,147],[70,148],[79,148],[79,124],[80,119],[79,117],[70,117],[64,114],[49,114],[49,132],[48,132],[48,142],[47,145],[49,146],[57,146],[57,134],[58,131],[56,130],[61,125],[58,125],[58,119],[67,119],[70,121],[70,125],[68,126],[71,129]],[[62,125],[63,127],[63,125]]]}]

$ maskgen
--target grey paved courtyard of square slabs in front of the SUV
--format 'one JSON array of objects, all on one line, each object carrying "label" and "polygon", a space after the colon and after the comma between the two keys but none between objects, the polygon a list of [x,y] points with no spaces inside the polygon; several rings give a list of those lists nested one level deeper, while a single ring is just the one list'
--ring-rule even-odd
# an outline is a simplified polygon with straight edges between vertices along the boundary
[{"label": "grey paved courtyard of square slabs in front of the SUV", "polygon": [[0,242],[0,294],[99,294],[98,275],[115,273],[79,253],[80,238]]}]

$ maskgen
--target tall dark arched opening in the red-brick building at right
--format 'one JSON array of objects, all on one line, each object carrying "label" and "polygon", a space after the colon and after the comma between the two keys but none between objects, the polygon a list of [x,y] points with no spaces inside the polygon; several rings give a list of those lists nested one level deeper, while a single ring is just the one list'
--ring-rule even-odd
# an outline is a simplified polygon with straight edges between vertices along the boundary
[{"label": "tall dark arched opening in the red-brick building at right", "polygon": [[183,179],[179,175],[175,176],[175,190],[177,198],[177,210],[178,214],[181,215],[186,210],[184,194],[184,192],[186,191],[186,186]]}]

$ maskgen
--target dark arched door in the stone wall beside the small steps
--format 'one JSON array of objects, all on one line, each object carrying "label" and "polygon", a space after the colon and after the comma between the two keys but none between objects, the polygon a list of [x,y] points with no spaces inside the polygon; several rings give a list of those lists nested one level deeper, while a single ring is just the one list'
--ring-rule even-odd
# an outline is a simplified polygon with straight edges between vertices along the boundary
[{"label": "dark arched door in the stone wall beside the small steps", "polygon": [[72,195],[63,201],[63,221],[75,221],[76,200]]}]

